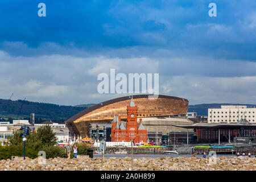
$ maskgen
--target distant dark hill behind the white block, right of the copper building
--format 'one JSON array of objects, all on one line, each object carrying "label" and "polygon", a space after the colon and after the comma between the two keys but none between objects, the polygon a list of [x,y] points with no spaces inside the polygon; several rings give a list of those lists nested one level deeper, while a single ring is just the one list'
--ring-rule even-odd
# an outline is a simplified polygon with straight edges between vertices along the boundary
[{"label": "distant dark hill behind the white block, right of the copper building", "polygon": [[188,112],[196,112],[197,115],[208,115],[208,108],[221,108],[221,105],[242,105],[242,106],[255,106],[253,104],[197,104],[189,105]]}]

